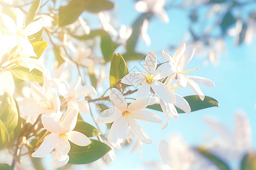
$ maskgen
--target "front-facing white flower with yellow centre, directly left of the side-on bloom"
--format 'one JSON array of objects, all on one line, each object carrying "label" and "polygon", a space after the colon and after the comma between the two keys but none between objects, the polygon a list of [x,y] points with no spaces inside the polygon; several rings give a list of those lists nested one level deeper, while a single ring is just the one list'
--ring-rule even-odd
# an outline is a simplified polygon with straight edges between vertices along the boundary
[{"label": "front-facing white flower with yellow centre, directly left of the side-on bloom", "polygon": [[158,81],[172,74],[172,70],[170,69],[171,66],[167,62],[163,63],[156,69],[156,65],[156,55],[151,50],[147,53],[144,62],[146,74],[140,72],[129,73],[122,78],[121,83],[129,85],[142,84],[137,91],[137,99],[147,97],[150,93],[150,88],[152,88],[160,99],[164,100],[166,103],[174,103],[174,92],[172,92],[172,90],[166,86],[166,84]]}]

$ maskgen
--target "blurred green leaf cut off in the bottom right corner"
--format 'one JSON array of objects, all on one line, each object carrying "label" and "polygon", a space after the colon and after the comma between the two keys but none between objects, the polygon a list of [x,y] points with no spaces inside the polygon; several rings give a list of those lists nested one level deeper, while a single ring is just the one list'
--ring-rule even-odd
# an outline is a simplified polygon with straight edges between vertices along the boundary
[{"label": "blurred green leaf cut off in the bottom right corner", "polygon": [[243,156],[241,161],[241,170],[251,170],[256,169],[256,154],[248,153]]}]

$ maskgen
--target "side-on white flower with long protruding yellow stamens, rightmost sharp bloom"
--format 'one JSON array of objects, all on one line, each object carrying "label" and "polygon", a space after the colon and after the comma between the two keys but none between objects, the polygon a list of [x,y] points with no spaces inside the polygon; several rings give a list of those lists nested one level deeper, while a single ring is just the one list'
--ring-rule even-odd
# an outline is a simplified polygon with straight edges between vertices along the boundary
[{"label": "side-on white flower with long protruding yellow stamens, rightmost sharp bloom", "polygon": [[[187,85],[192,88],[193,91],[195,91],[201,100],[204,100],[204,94],[201,92],[200,87],[198,86],[197,83],[204,84],[205,86],[210,86],[213,87],[215,86],[212,80],[209,80],[207,78],[201,78],[200,76],[186,76],[183,75],[185,73],[188,73],[193,70],[198,70],[193,69],[193,70],[185,70],[185,66],[191,61],[193,54],[195,52],[195,47],[194,46],[188,46],[186,48],[185,43],[180,46],[179,49],[176,50],[174,53],[174,56],[169,56],[162,50],[162,54],[164,57],[166,57],[171,65],[172,71],[174,71],[174,74],[171,75],[167,80],[166,84],[170,84],[174,79],[177,79],[176,84],[177,86],[180,87],[186,87]],[[196,83],[197,82],[197,83]]]}]

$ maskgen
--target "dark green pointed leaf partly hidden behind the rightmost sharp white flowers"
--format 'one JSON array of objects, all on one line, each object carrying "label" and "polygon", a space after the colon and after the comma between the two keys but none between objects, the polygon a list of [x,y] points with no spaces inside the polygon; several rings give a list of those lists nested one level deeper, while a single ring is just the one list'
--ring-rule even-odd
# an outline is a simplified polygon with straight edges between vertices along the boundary
[{"label": "dark green pointed leaf partly hidden behind the rightmost sharp white flowers", "polygon": [[[197,95],[185,96],[184,99],[188,101],[188,104],[191,107],[191,112],[199,111],[201,109],[206,109],[210,107],[218,107],[218,101],[209,96],[205,96],[204,101],[202,101]],[[147,108],[163,112],[160,104],[149,105]],[[178,113],[185,113],[177,107],[176,109]]]}]

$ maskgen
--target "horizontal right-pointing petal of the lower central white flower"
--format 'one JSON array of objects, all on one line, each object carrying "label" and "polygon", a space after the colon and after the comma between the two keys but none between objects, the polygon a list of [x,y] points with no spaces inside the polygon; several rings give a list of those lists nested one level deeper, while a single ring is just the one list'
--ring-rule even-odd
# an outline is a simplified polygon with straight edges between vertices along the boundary
[{"label": "horizontal right-pointing petal of the lower central white flower", "polygon": [[138,111],[138,113],[133,113],[131,117],[133,117],[137,120],[155,122],[160,125],[163,124],[161,118],[159,116],[157,116],[155,113],[152,113],[150,111]]}]

